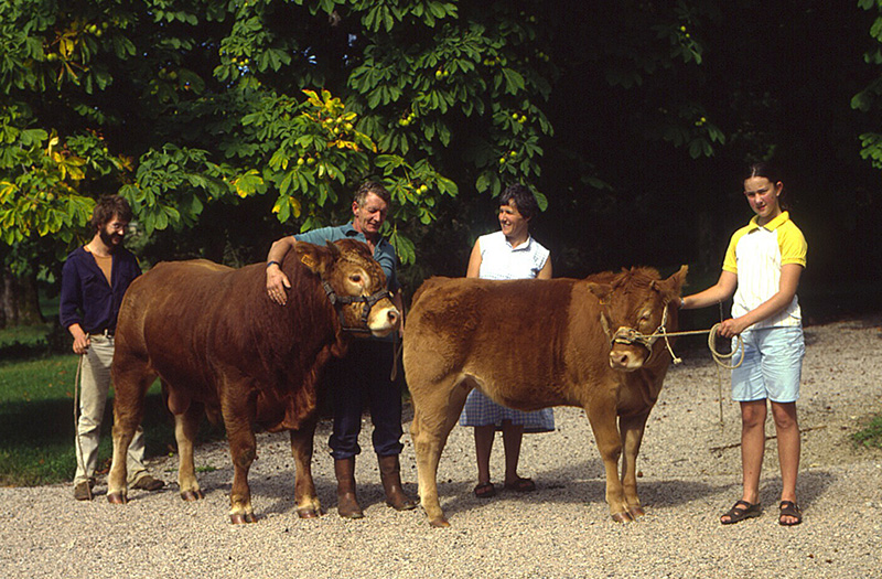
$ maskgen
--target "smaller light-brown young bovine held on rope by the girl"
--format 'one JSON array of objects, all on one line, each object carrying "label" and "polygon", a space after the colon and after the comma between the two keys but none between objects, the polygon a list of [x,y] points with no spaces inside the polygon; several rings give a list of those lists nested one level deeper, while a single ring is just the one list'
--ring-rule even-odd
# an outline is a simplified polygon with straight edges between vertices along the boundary
[{"label": "smaller light-brown young bovine held on rope by the girl", "polygon": [[518,410],[584,408],[613,518],[642,515],[637,452],[670,363],[664,341],[644,336],[663,323],[676,330],[686,272],[684,266],[666,280],[633,268],[584,280],[426,281],[405,329],[404,364],[420,500],[432,526],[448,525],[438,462],[472,388]]}]

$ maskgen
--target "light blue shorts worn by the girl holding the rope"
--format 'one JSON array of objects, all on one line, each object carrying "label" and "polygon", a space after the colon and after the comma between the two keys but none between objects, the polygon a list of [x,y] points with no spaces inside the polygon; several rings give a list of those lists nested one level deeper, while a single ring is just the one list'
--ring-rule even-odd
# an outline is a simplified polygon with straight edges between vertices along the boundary
[{"label": "light blue shorts worn by the girl holding the rope", "polygon": [[[777,326],[747,330],[744,362],[732,371],[732,399],[738,403],[763,400],[794,403],[799,398],[803,357],[806,344],[802,326]],[[738,339],[732,340],[736,349]],[[741,352],[732,358],[738,362]]]}]

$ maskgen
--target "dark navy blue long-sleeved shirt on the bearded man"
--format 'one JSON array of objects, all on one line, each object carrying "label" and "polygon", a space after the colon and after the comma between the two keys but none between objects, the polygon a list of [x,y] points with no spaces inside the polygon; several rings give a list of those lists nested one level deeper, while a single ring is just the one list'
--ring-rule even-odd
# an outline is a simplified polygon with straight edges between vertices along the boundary
[{"label": "dark navy blue long-sleeved shirt on the bearded man", "polygon": [[62,296],[58,320],[63,328],[78,323],[87,334],[107,330],[114,333],[122,296],[135,278],[141,275],[138,259],[123,247],[114,250],[110,281],[83,247],[67,256],[62,268]]}]

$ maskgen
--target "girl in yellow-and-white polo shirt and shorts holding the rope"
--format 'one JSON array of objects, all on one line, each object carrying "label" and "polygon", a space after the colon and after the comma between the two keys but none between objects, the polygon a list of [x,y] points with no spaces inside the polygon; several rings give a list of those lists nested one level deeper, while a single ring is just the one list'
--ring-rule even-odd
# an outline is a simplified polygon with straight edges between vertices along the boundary
[{"label": "girl in yellow-and-white polo shirt and shorts holding the rope", "polygon": [[[766,163],[749,168],[744,196],[756,214],[732,235],[717,285],[682,298],[681,309],[704,308],[734,294],[732,318],[718,330],[741,334],[744,362],[732,371],[732,399],[741,405],[741,498],[720,518],[723,525],[760,516],[760,471],[765,450],[766,399],[772,407],[781,465],[778,523],[798,525],[799,397],[805,342],[796,288],[806,266],[803,233],[784,211],[784,183]],[[738,360],[741,354],[735,354]]]}]

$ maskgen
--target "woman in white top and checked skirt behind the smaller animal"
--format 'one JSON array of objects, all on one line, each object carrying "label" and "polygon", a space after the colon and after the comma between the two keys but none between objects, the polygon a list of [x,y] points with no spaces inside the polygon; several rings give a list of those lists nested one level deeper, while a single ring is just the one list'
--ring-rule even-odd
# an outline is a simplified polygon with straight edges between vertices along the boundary
[{"label": "woman in white top and checked skirt behind the smaller animal", "polygon": [[[524,185],[510,185],[499,196],[501,230],[481,236],[472,248],[466,277],[483,279],[550,279],[549,251],[529,235],[529,221],[538,213],[536,197]],[[517,312],[512,312],[517,315]],[[461,426],[475,429],[477,486],[475,496],[490,498],[496,489],[490,480],[490,455],[496,430],[503,432],[505,449],[505,487],[529,492],[536,490],[530,479],[517,474],[520,441],[524,432],[555,430],[551,408],[523,412],[499,406],[480,390],[472,390],[465,401]]]}]

